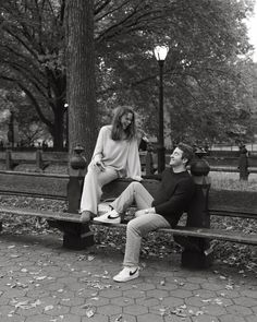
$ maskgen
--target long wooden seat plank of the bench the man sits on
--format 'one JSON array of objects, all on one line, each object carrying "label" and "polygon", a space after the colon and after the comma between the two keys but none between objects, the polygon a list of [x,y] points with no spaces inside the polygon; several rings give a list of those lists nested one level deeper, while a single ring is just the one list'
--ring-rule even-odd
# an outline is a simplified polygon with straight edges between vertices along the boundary
[{"label": "long wooden seat plank of the bench the man sits on", "polygon": [[[64,220],[72,223],[82,223],[79,214],[71,214],[63,212],[50,212],[50,211],[38,211],[30,208],[15,208],[15,207],[0,207],[0,213],[17,215],[17,216],[34,216],[34,217],[44,217],[50,220]],[[103,224],[98,222],[90,222],[90,225],[101,225],[107,227],[119,227],[125,228],[126,224]],[[220,239],[228,241],[235,241],[240,243],[248,243],[248,245],[257,245],[257,234],[243,234],[241,231],[228,231],[228,230],[218,230],[212,228],[195,228],[195,227],[183,227],[178,226],[175,229],[173,228],[161,228],[158,231],[163,232],[173,232],[174,235],[181,236],[191,236],[198,238],[208,238],[208,239]]]}]

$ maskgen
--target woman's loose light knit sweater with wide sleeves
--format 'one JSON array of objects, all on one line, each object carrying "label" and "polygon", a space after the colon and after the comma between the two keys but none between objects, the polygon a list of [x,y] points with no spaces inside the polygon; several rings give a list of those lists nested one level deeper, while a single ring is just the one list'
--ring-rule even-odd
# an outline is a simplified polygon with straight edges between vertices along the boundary
[{"label": "woman's loose light knit sweater with wide sleeves", "polygon": [[134,180],[142,180],[140,160],[137,140],[111,139],[112,126],[105,126],[100,129],[93,158],[100,154],[105,166],[114,168],[120,177],[127,177]]}]

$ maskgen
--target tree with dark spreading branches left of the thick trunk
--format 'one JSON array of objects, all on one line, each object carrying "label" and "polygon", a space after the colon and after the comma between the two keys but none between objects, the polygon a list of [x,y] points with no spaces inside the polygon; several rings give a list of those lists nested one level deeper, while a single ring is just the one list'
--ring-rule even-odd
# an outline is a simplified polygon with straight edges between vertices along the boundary
[{"label": "tree with dark spreading branches left of the thick trunk", "polygon": [[64,1],[0,2],[0,76],[26,94],[63,146],[65,114]]}]

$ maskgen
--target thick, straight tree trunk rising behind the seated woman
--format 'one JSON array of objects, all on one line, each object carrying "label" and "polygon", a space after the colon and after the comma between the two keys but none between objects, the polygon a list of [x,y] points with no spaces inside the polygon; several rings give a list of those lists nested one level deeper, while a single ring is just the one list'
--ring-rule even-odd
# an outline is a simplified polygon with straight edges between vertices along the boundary
[{"label": "thick, straight tree trunk rising behind the seated woman", "polygon": [[69,152],[81,144],[87,162],[96,143],[94,1],[66,1]]}]

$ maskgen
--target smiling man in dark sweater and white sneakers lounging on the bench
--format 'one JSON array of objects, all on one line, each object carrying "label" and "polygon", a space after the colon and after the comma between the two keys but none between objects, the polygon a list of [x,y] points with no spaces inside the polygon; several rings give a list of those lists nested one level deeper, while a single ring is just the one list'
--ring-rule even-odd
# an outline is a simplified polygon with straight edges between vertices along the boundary
[{"label": "smiling man in dark sweater and white sneakers lounging on the bench", "polygon": [[139,182],[132,182],[122,194],[111,203],[111,212],[94,220],[120,223],[120,214],[134,201],[139,211],[126,227],[124,269],[113,277],[115,282],[127,282],[139,276],[139,252],[142,237],[158,228],[175,227],[181,215],[194,195],[195,184],[186,170],[193,158],[189,145],[180,143],[170,158],[170,168],[162,172],[160,187],[154,199]]}]

